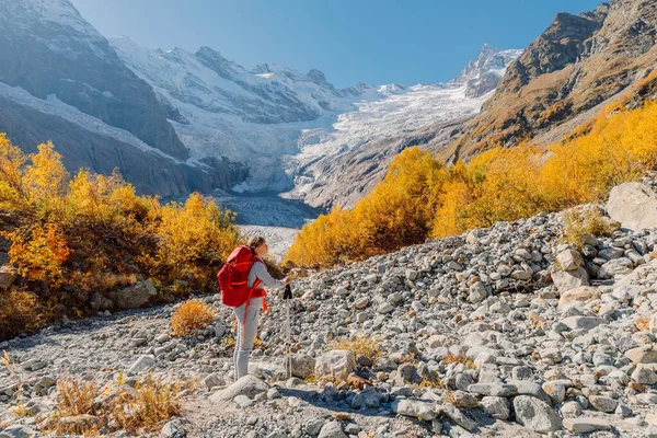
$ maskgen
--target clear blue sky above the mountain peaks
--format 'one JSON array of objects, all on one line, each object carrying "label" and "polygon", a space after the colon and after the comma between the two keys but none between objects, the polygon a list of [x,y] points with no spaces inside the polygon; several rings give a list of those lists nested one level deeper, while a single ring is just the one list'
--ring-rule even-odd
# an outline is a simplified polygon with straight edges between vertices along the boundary
[{"label": "clear blue sky above the mountain peaks", "polygon": [[71,0],[107,37],[212,47],[246,68],[322,70],[338,88],[445,82],[484,43],[525,48],[560,11],[597,0]]}]

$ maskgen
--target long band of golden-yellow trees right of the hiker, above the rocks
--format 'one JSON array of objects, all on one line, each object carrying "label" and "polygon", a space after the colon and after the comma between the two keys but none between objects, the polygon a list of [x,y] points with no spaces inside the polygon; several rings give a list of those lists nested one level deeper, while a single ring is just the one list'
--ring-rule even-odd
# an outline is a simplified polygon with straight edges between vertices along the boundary
[{"label": "long band of golden-yellow trees right of the hiker, above the rocks", "polygon": [[601,201],[612,186],[657,165],[656,103],[639,110],[614,105],[587,130],[548,148],[491,149],[449,168],[410,148],[353,210],[334,209],[303,227],[286,260],[332,265],[496,221]]}]

